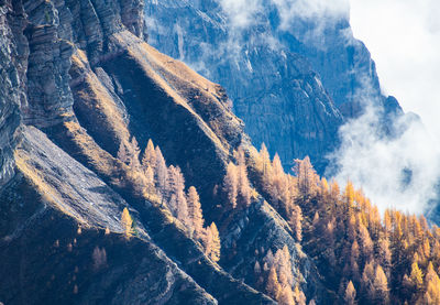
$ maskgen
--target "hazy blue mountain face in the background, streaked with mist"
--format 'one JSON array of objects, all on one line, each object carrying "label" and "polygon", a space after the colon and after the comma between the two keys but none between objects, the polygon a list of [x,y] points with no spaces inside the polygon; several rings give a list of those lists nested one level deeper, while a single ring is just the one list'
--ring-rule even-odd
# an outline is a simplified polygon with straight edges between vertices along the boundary
[{"label": "hazy blue mountain face in the background, streaked with mist", "polygon": [[349,4],[320,3],[146,0],[148,43],[221,84],[256,146],[277,152],[286,168],[309,155],[323,173],[339,127],[367,101],[385,117],[403,112],[382,95]]}]

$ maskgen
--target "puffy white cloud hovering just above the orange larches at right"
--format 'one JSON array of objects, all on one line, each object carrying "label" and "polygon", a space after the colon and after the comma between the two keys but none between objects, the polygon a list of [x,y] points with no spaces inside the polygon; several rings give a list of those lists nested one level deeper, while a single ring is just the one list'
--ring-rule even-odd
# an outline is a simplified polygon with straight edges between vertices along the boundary
[{"label": "puffy white cloud hovering just above the orange larches at right", "polygon": [[352,181],[383,213],[397,208],[415,214],[430,208],[440,178],[440,150],[425,127],[407,116],[395,120],[402,137],[386,140],[378,130],[381,109],[366,112],[340,129],[341,148],[330,157],[336,179]]}]

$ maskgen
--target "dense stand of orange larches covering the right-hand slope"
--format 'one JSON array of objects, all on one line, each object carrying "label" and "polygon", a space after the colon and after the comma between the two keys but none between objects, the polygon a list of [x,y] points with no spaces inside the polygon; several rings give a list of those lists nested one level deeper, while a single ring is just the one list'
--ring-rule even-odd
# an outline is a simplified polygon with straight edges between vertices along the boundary
[{"label": "dense stand of orange larches covering the right-hand slope", "polygon": [[[440,270],[438,227],[430,228],[422,216],[398,210],[386,210],[382,217],[351,182],[341,192],[337,182],[320,178],[308,157],[295,161],[294,176],[279,171],[278,156],[271,162],[264,145],[254,160],[252,183],[290,225],[339,299],[359,287],[354,291],[360,304],[378,299],[381,304],[436,304],[431,299],[440,291],[435,284]],[[295,205],[300,214],[293,213]],[[348,290],[350,282],[353,290]]]}]

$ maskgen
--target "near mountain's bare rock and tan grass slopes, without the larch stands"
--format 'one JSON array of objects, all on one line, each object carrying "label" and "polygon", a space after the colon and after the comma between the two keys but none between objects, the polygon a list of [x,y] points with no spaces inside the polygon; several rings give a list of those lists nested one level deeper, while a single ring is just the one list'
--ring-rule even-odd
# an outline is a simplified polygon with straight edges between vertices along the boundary
[{"label": "near mountain's bare rock and tan grass slopes, without the larch stands", "polygon": [[[215,189],[251,141],[224,89],[144,42],[142,1],[0,1],[0,302],[273,304],[251,286],[252,253],[284,244],[295,284],[328,299],[262,196],[233,221],[222,214]],[[295,86],[320,88],[308,79]],[[117,159],[133,135],[142,148],[153,139],[197,187],[220,228],[219,264]],[[138,228],[130,240],[124,207]]]}]

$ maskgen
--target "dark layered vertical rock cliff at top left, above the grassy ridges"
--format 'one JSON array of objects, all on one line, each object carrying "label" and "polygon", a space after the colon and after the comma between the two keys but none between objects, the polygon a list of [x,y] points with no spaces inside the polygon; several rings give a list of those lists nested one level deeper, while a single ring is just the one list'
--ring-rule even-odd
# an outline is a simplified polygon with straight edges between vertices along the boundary
[{"label": "dark layered vertical rock cliff at top left, above the grassy ridges", "polygon": [[108,47],[106,35],[125,28],[144,35],[141,1],[41,0],[18,1],[16,7],[22,7],[29,23],[24,121],[42,128],[64,121],[73,107],[68,75],[73,43],[90,51],[91,61],[97,62]]}]

